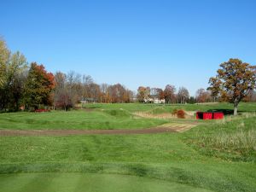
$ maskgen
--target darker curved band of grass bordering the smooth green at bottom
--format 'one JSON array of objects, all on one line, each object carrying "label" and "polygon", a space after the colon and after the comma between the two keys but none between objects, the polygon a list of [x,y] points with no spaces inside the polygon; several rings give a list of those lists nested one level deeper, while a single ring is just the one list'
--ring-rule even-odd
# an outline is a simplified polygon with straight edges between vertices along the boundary
[{"label": "darker curved band of grass bordering the smooth green at bottom", "polygon": [[[206,166],[207,168],[207,166]],[[196,169],[195,169],[196,170]],[[197,172],[172,166],[148,166],[137,163],[46,163],[46,164],[2,164],[0,174],[30,172],[83,172],[99,174],[133,175],[149,177],[170,182],[187,184],[189,186],[210,189],[212,191],[255,191],[253,186],[237,182],[236,177],[225,179],[225,174],[219,177],[209,177],[201,169]]]}]

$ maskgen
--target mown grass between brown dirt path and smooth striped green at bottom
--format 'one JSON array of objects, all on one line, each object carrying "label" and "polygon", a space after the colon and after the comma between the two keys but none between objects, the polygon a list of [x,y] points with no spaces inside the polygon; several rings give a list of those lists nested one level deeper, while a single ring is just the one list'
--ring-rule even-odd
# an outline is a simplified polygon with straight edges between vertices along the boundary
[{"label": "mown grass between brown dirt path and smooth striped green at bottom", "polygon": [[118,174],[165,180],[195,191],[256,191],[255,163],[202,154],[183,143],[183,134],[0,137],[0,148],[0,172],[11,173],[9,177],[22,172]]}]

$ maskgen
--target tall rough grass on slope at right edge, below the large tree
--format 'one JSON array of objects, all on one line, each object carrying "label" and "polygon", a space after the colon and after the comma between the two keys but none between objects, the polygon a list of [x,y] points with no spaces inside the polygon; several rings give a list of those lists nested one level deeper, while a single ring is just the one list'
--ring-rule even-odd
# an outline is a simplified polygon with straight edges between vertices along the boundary
[{"label": "tall rough grass on slope at right edge, below the large tree", "polygon": [[188,132],[186,143],[193,145],[202,154],[224,160],[256,162],[255,125],[255,113],[228,116]]}]

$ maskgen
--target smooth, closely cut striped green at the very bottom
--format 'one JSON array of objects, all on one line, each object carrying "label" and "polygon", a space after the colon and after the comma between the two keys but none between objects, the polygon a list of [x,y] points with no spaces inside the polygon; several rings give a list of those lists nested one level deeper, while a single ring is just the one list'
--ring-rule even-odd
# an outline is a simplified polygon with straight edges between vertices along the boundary
[{"label": "smooth, closely cut striped green at the very bottom", "polygon": [[146,177],[92,173],[3,174],[0,175],[0,186],[4,192],[210,192]]}]

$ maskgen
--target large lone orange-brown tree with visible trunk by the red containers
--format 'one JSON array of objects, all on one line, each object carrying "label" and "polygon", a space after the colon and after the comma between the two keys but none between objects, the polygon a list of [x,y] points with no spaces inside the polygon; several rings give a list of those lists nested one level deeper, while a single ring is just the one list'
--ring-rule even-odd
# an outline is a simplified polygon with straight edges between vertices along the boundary
[{"label": "large lone orange-brown tree with visible trunk by the red containers", "polygon": [[219,83],[214,84],[210,79],[209,89],[222,91],[228,101],[234,104],[234,115],[236,115],[239,102],[247,96],[250,90],[255,89],[256,67],[239,59],[230,59],[220,64],[214,79],[217,79]]}]

